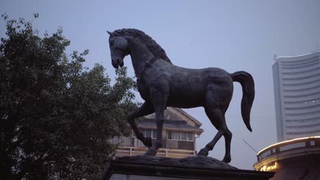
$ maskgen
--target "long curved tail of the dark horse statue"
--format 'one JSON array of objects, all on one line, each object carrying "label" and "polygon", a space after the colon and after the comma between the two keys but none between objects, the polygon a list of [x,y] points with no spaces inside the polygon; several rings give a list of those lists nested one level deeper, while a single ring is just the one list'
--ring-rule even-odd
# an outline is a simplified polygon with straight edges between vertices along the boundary
[{"label": "long curved tail of the dark horse statue", "polygon": [[230,74],[233,81],[240,82],[242,87],[241,115],[248,130],[252,132],[250,126],[250,111],[254,101],[254,80],[248,72],[235,72]]}]

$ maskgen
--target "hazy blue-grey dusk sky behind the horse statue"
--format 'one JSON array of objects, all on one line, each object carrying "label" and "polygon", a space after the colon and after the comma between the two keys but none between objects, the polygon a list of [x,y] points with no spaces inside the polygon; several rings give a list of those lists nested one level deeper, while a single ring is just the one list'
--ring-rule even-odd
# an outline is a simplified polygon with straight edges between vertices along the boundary
[{"label": "hazy blue-grey dusk sky behind the horse statue", "polygon": [[[106,31],[135,28],[150,35],[174,65],[188,68],[220,67],[227,72],[252,74],[256,97],[249,132],[241,118],[242,89],[235,89],[226,123],[232,132],[230,164],[253,169],[256,153],[277,142],[274,86],[271,64],[274,55],[302,55],[320,49],[320,1],[16,1],[1,0],[0,13],[9,18],[33,20],[40,35],[62,27],[71,41],[67,52],[89,49],[85,65],[101,63],[114,78]],[[5,21],[0,21],[5,37]],[[130,57],[124,65],[134,76]],[[142,102],[137,94],[137,101]],[[200,150],[217,133],[203,108],[184,109],[202,123],[197,139]],[[211,157],[222,160],[224,138]]]}]

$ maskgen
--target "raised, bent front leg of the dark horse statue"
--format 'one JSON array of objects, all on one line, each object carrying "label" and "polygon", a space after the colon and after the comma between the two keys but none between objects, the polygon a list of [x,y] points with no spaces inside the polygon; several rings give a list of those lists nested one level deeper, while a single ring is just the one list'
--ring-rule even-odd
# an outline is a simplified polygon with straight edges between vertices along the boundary
[{"label": "raised, bent front leg of the dark horse statue", "polygon": [[152,146],[152,139],[149,137],[144,137],[144,134],[142,134],[142,132],[140,132],[140,130],[137,128],[137,125],[135,124],[135,119],[138,117],[144,117],[146,115],[150,115],[153,112],[155,112],[155,110],[153,110],[152,104],[148,102],[144,102],[142,106],[137,108],[135,112],[129,115],[129,119],[128,119],[128,122],[131,125],[133,132],[135,132],[135,136],[137,136],[137,138],[141,140],[146,147]]}]

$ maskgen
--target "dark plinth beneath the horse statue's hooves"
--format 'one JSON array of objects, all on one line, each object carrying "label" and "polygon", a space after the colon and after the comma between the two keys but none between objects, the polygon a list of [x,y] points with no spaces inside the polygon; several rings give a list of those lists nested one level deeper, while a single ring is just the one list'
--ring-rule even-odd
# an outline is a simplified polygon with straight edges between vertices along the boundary
[{"label": "dark plinth beneath the horse statue's hooves", "polygon": [[117,157],[105,168],[101,180],[137,179],[237,179],[267,180],[274,172],[241,170],[213,157],[194,156],[182,159],[135,155]]}]

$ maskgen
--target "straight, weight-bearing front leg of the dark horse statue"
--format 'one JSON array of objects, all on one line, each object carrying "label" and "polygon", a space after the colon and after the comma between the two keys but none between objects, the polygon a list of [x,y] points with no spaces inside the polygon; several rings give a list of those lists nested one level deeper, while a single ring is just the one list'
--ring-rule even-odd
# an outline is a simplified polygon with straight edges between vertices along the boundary
[{"label": "straight, weight-bearing front leg of the dark horse statue", "polygon": [[157,149],[162,146],[162,130],[163,130],[163,122],[164,122],[164,110],[167,103],[168,94],[159,91],[156,88],[150,89],[150,97],[152,99],[152,104],[155,109],[156,121],[157,121],[157,140],[152,143],[152,147],[150,147],[144,155],[156,155]]}]

